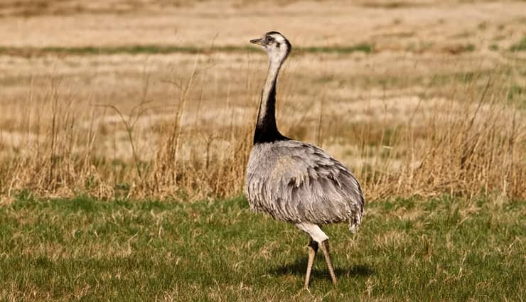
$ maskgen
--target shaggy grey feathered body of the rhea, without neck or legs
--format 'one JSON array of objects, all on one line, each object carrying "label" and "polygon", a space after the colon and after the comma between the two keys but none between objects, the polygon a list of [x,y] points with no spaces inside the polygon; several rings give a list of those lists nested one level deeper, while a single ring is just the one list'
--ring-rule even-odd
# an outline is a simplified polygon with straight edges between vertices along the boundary
[{"label": "shaggy grey feathered body of the rhea, without neck or legs", "polygon": [[247,166],[250,208],[291,223],[349,222],[360,227],[363,194],[358,180],[322,149],[300,141],[256,144]]}]

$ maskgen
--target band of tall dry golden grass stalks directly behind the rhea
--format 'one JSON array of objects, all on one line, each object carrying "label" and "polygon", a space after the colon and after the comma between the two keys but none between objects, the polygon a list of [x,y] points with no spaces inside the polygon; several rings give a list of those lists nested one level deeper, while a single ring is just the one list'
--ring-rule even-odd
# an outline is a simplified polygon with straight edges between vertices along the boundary
[{"label": "band of tall dry golden grass stalks directly behind the rhea", "polygon": [[[149,91],[149,72],[141,95],[127,108],[112,102],[112,94],[79,99],[60,75],[50,75],[46,85],[31,80],[26,99],[1,124],[0,193],[97,198],[242,193],[262,78],[262,69],[247,70],[246,82],[236,88],[250,96],[245,111],[228,93],[215,100],[217,107],[208,107],[203,95],[217,72],[207,60],[195,60],[190,72],[164,77],[171,101],[162,106]],[[321,144],[341,158],[367,200],[443,193],[526,198],[525,112],[508,100],[505,68],[455,78],[433,93],[430,82],[409,97],[338,104],[328,94],[328,77],[303,112],[289,114],[297,102],[294,90],[301,87],[294,82],[296,71],[281,80],[279,125],[286,135]],[[333,117],[334,107],[353,114]],[[205,115],[209,118],[201,119]]]}]

